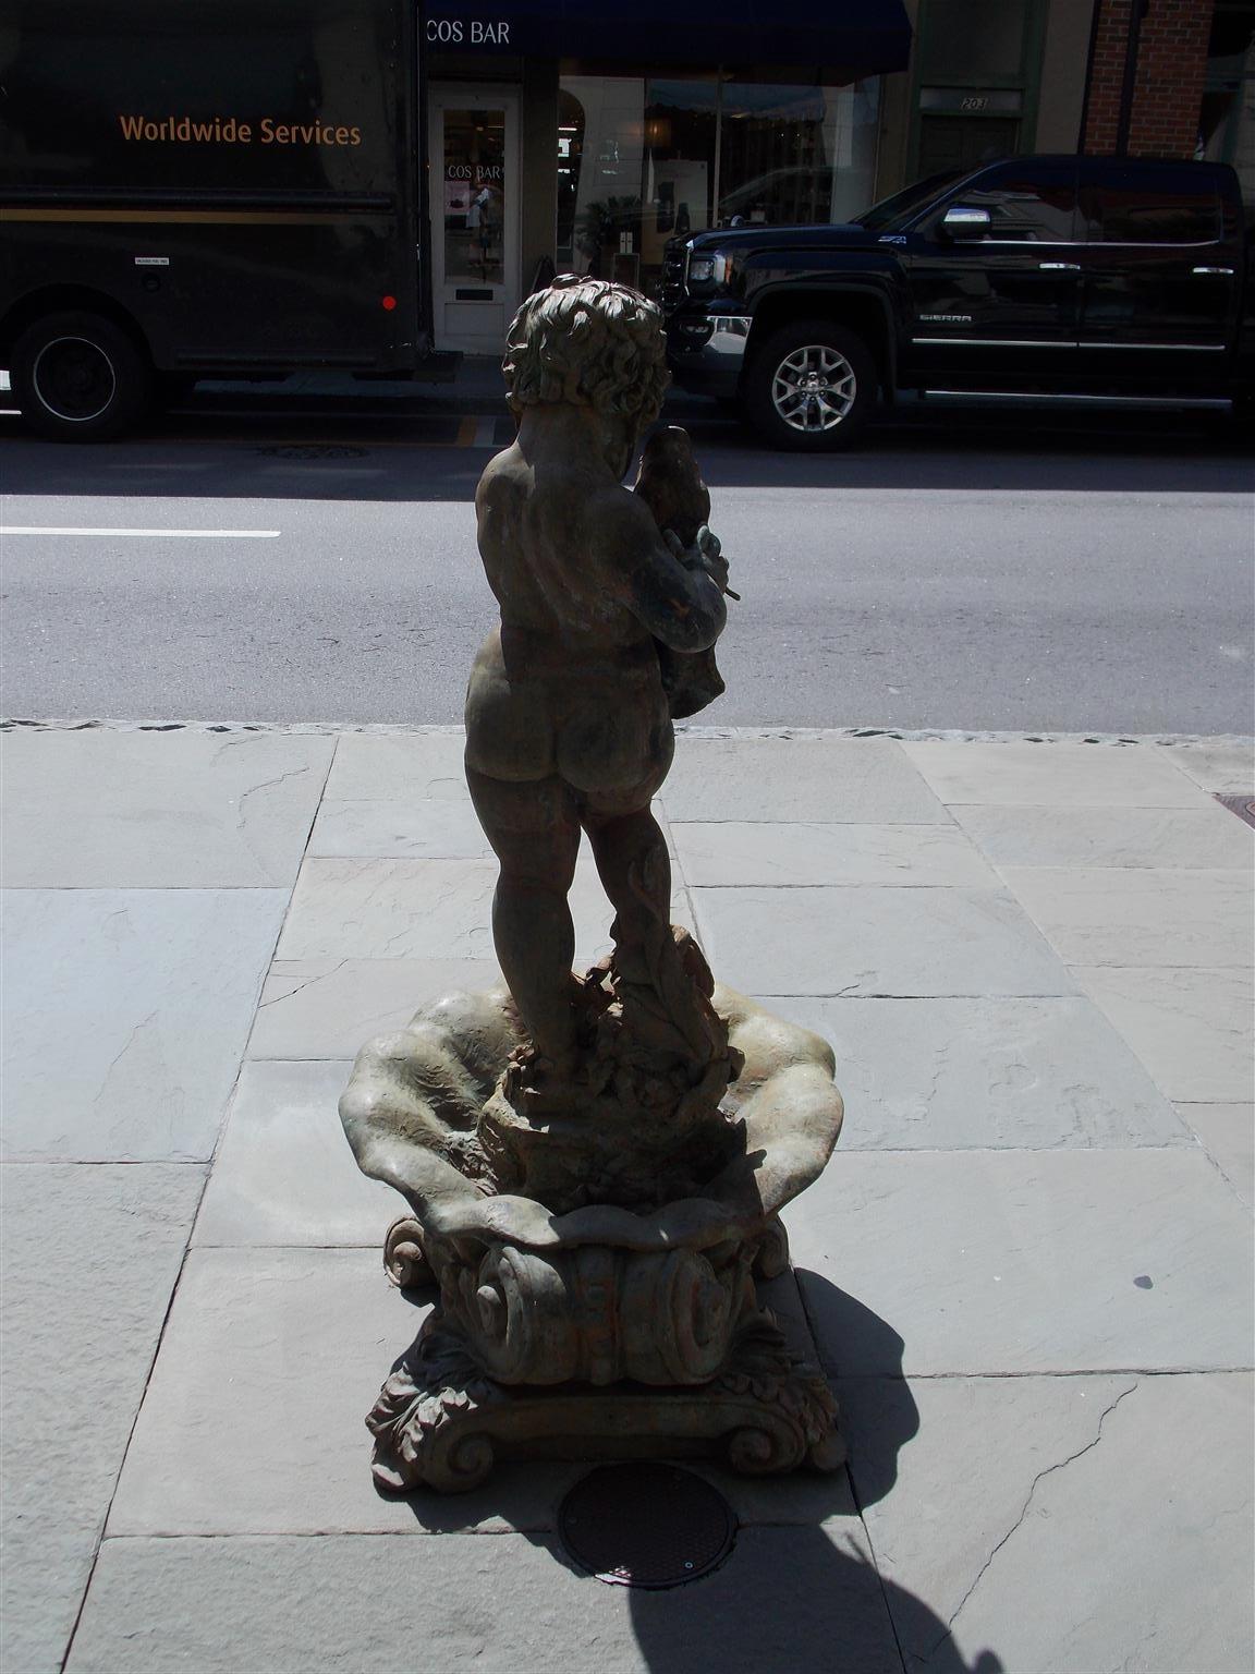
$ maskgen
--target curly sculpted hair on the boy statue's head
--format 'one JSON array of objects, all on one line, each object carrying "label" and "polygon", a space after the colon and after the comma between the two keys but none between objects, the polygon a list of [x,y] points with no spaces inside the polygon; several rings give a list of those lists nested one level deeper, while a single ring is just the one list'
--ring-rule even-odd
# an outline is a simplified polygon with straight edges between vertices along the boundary
[{"label": "curly sculpted hair on the boy statue's head", "polygon": [[661,310],[626,285],[561,273],[514,316],[502,372],[515,417],[524,407],[574,402],[644,429],[671,382]]}]

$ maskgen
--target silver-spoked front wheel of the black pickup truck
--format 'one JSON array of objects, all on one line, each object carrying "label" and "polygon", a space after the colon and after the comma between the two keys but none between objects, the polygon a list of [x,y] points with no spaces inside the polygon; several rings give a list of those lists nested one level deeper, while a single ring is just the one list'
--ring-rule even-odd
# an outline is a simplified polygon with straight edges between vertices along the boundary
[{"label": "silver-spoked front wheel of the black pickup truck", "polygon": [[875,405],[867,343],[832,320],[802,320],[768,336],[745,382],[745,415],[773,447],[850,447]]}]

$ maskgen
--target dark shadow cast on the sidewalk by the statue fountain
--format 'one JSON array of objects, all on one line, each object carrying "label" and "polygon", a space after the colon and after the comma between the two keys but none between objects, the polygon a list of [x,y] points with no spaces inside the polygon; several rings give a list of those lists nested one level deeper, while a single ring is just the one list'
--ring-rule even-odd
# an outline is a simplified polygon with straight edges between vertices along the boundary
[{"label": "dark shadow cast on the sidewalk by the statue fountain", "polygon": [[[892,1493],[899,1453],[919,1435],[919,1410],[902,1376],[902,1338],[818,1274],[797,1271],[797,1277],[815,1339],[827,1346],[828,1369],[837,1368],[848,1466],[832,1476],[781,1480],[775,1507],[770,1480],[746,1485],[751,1512],[721,1569],[691,1585],[628,1589],[643,1666],[649,1674],[897,1674],[905,1669],[905,1641],[929,1647],[924,1661],[912,1656],[912,1674],[1004,1674],[987,1649],[967,1662],[937,1612],[877,1572],[858,1515]],[[415,1302],[433,1299],[430,1292],[410,1296]],[[858,1368],[857,1376],[843,1374],[847,1361]],[[537,1515],[540,1502],[556,1503],[592,1468],[540,1466],[549,1493],[537,1497],[537,1466],[504,1465],[465,1500],[413,1495],[408,1503],[428,1532],[453,1533],[475,1527],[485,1513],[500,1515],[556,1565],[601,1592],[602,1584],[562,1550],[552,1517]],[[728,1485],[725,1493],[735,1488]],[[659,1507],[658,1517],[661,1532],[668,1508]],[[581,1674],[596,1669],[597,1642],[621,1619],[617,1600],[606,1597],[614,1592],[606,1589],[589,1600]]]}]

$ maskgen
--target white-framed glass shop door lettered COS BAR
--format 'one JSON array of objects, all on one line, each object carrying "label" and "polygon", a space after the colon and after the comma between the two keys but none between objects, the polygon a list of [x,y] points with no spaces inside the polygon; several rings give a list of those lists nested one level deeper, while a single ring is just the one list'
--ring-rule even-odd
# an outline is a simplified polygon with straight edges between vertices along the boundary
[{"label": "white-framed glass shop door lettered COS BAR", "polygon": [[435,345],[500,355],[520,300],[519,99],[432,87],[428,112]]}]

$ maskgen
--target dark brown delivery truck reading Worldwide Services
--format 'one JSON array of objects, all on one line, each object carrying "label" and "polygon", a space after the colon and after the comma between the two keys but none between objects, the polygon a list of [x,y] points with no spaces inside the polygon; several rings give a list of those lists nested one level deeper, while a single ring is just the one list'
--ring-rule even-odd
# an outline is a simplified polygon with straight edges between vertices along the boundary
[{"label": "dark brown delivery truck reading Worldwide Services", "polygon": [[0,365],[57,439],[196,378],[448,377],[407,0],[10,0]]}]

